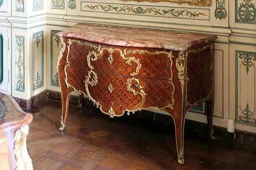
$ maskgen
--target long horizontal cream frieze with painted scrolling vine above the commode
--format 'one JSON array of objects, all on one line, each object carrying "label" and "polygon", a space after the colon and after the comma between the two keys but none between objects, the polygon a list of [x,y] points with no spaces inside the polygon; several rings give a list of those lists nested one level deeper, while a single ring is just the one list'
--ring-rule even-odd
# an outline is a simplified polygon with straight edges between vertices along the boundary
[{"label": "long horizontal cream frieze with painted scrolling vine above the commode", "polygon": [[207,8],[125,5],[88,1],[81,1],[81,11],[201,20],[209,20],[210,15],[210,10]]}]

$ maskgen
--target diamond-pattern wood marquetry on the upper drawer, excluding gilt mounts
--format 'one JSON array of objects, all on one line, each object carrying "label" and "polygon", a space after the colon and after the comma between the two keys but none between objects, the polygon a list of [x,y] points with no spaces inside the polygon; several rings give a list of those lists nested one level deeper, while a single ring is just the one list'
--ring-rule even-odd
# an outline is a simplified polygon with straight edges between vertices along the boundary
[{"label": "diamond-pattern wood marquetry on the upper drawer, excluding gilt mounts", "polygon": [[[93,44],[91,42],[79,41],[82,44],[88,43],[90,45],[99,46],[97,44]],[[87,56],[89,52],[99,53],[96,49],[91,46],[86,46],[86,48],[82,48],[82,45],[77,41],[72,41],[72,44],[69,46],[69,54],[68,61],[73,64],[81,65],[84,67],[89,67]],[[97,56],[97,59],[94,61],[94,55],[90,56],[90,65],[94,70],[101,71],[103,73],[109,74],[117,74],[117,75],[127,75],[130,76],[132,73],[136,72],[137,67],[140,67],[138,74],[135,76],[142,77],[150,77],[150,78],[161,78],[161,79],[169,79],[171,75],[171,60],[168,58],[168,54],[160,53],[160,54],[150,54],[155,53],[156,50],[141,50],[143,52],[135,51],[129,52],[129,50],[135,50],[134,48],[118,48],[120,50],[115,49],[110,53],[108,49],[111,47],[106,45],[100,45],[102,50],[102,55]],[[121,54],[126,50],[126,54],[124,54],[125,58],[135,58],[139,59],[139,64],[130,61],[130,66],[127,64],[128,59],[124,59]],[[76,56],[82,56],[82,60],[77,61]],[[113,61],[109,61],[109,57],[112,55]],[[162,68],[162,69],[159,69]]]}]

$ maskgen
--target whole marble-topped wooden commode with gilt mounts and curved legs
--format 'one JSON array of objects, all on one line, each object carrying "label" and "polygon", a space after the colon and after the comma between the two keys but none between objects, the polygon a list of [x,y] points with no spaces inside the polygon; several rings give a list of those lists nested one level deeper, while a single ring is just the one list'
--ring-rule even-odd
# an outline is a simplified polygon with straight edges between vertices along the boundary
[{"label": "whole marble-topped wooden commode with gilt mounts and curved legs", "polygon": [[184,164],[187,110],[207,100],[213,136],[212,35],[80,23],[57,34],[61,127],[69,96],[79,92],[110,117],[155,108],[174,118],[179,164]]}]

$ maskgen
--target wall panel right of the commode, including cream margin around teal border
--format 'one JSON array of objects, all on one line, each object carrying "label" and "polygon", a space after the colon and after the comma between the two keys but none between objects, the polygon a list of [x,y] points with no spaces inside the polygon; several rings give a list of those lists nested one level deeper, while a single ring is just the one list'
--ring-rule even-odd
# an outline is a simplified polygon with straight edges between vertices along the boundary
[{"label": "wall panel right of the commode, including cream margin around teal border", "polygon": [[235,128],[255,133],[256,48],[230,44],[230,118]]}]

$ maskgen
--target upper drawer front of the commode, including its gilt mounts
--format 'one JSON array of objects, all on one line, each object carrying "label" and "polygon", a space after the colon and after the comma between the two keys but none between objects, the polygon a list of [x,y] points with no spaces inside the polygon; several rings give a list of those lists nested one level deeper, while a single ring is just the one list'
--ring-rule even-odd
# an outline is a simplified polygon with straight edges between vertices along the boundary
[{"label": "upper drawer front of the commode, including its gilt mounts", "polygon": [[69,39],[67,61],[102,73],[172,78],[172,52],[106,46]]}]

